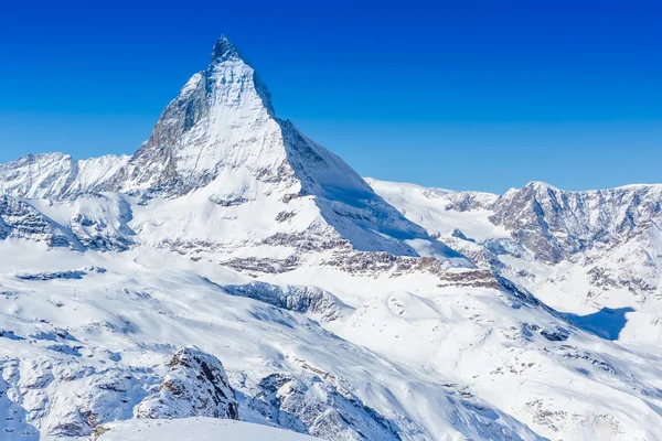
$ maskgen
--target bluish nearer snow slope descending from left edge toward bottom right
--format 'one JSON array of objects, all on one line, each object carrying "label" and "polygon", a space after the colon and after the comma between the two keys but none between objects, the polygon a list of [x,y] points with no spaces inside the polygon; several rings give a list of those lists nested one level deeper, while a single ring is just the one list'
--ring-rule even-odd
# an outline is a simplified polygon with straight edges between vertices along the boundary
[{"label": "bluish nearer snow slope descending from left edge toward bottom right", "polygon": [[[3,439],[85,438],[99,423],[140,416],[168,381],[173,354],[191,344],[223,362],[242,420],[330,440],[538,439],[434,370],[352,344],[300,312],[233,295],[222,287],[253,278],[232,269],[143,249],[79,254],[7,241],[0,251],[0,402],[13,416]],[[105,271],[15,276],[83,263]]]}]

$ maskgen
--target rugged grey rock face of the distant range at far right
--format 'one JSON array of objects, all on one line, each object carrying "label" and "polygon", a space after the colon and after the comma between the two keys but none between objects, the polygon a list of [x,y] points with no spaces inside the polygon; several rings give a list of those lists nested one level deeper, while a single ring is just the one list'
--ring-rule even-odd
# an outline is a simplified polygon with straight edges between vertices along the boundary
[{"label": "rugged grey rock face of the distant range at far right", "polygon": [[532,182],[511,190],[490,217],[542,260],[557,262],[590,248],[610,248],[659,229],[662,185],[567,192]]}]

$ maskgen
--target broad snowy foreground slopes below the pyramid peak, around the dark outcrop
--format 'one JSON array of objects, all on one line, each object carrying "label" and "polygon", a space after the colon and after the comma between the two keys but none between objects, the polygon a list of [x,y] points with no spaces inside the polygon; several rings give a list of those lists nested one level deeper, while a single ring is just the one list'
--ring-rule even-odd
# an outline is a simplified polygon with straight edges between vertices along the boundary
[{"label": "broad snowy foreground slopes below the pyramid peak, around the dark outcrop", "polygon": [[[317,322],[224,288],[249,289],[248,275],[166,251],[0,251],[7,439],[87,437],[140,415],[191,344],[223,362],[241,419],[323,439],[655,439],[662,424],[659,354],[623,351],[485,271],[258,278],[355,309]],[[17,277],[84,265],[105,271]]]}]

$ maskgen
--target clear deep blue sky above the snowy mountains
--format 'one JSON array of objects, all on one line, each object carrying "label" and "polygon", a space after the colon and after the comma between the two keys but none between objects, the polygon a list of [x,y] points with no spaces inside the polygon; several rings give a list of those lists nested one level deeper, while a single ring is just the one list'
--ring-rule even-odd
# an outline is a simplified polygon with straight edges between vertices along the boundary
[{"label": "clear deep blue sky above the snowy mountains", "polygon": [[363,175],[662,182],[662,2],[317,3],[6,2],[0,161],[134,152],[225,33],[276,111]]}]

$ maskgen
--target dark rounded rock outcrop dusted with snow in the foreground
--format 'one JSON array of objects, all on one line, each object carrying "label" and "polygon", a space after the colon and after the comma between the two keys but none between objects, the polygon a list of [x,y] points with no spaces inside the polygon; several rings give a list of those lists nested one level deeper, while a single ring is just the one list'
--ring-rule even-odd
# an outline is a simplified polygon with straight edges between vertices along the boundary
[{"label": "dark rounded rock outcrop dusted with snow in the foreground", "polygon": [[235,391],[223,364],[193,347],[174,354],[159,391],[145,398],[135,413],[136,418],[239,419]]}]

